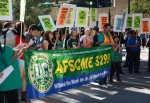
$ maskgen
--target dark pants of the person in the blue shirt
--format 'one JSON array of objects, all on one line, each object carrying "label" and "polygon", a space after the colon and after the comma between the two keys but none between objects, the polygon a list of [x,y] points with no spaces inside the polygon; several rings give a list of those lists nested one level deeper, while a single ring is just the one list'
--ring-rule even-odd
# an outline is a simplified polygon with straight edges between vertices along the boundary
[{"label": "dark pants of the person in the blue shirt", "polygon": [[137,51],[130,51],[130,57],[129,57],[129,72],[139,72],[139,66],[140,66],[140,50]]}]

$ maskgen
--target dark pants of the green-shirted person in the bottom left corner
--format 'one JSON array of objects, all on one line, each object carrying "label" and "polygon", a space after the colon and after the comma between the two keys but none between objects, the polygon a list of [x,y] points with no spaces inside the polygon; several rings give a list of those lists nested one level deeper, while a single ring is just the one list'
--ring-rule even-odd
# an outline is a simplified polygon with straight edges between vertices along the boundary
[{"label": "dark pants of the green-shirted person in the bottom left corner", "polygon": [[19,103],[18,90],[0,91],[0,103]]}]

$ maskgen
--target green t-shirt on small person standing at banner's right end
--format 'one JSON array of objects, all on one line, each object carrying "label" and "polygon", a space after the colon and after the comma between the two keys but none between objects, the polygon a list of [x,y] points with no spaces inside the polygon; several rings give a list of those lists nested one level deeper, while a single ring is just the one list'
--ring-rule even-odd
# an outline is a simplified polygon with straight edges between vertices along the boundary
[{"label": "green t-shirt on small person standing at banner's right end", "polygon": [[112,62],[121,62],[122,61],[122,55],[119,53],[119,50],[113,51],[112,50]]}]

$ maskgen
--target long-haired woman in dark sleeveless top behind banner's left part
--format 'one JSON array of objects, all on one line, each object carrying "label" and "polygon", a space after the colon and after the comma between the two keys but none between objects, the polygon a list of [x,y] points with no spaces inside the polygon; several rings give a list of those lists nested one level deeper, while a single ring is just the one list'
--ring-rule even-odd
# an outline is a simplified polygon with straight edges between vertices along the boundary
[{"label": "long-haired woman in dark sleeveless top behind banner's left part", "polygon": [[54,50],[55,41],[53,33],[50,30],[48,30],[44,33],[43,37],[44,37],[44,41],[42,44],[43,50]]}]

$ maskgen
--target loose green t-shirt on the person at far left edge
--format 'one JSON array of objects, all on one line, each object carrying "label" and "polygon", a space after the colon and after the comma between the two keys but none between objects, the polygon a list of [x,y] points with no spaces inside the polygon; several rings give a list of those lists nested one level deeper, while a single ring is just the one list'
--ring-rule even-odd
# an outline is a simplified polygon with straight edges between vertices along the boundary
[{"label": "loose green t-shirt on the person at far left edge", "polygon": [[[4,46],[2,46],[2,49],[4,49]],[[0,72],[3,72],[3,70],[11,65],[13,55],[14,51],[9,46],[5,46],[5,51],[0,52]],[[6,80],[0,84],[0,91],[9,91],[22,87],[18,59],[14,60],[12,66],[14,70]]]}]

